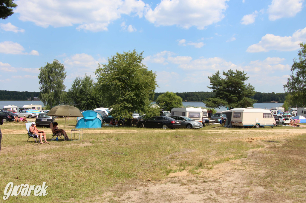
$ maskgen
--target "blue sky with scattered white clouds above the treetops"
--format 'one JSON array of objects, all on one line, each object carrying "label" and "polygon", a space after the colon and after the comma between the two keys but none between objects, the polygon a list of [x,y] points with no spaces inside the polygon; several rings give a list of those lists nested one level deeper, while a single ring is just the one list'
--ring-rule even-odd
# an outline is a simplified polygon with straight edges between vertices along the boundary
[{"label": "blue sky with scattered white clouds above the treetops", "polygon": [[58,59],[68,90],[95,78],[117,52],[144,52],[156,92],[211,91],[208,76],[244,70],[259,92],[284,92],[299,43],[304,0],[15,0],[0,20],[0,89],[39,91],[39,68]]}]

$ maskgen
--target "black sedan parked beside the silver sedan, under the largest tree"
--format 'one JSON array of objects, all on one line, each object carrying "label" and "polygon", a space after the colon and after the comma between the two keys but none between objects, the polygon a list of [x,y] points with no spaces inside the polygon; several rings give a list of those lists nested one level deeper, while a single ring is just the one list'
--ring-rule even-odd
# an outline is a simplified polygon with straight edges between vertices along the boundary
[{"label": "black sedan parked beside the silver sedan, under the largest tree", "polygon": [[153,116],[147,120],[138,121],[137,126],[140,128],[178,128],[181,126],[181,121],[167,116]]}]

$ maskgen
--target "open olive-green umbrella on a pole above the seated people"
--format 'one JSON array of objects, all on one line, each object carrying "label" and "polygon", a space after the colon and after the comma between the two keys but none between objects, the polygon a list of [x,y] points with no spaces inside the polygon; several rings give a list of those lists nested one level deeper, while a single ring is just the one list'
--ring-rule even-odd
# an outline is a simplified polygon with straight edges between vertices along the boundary
[{"label": "open olive-green umbrella on a pole above the seated people", "polygon": [[65,116],[65,130],[66,130],[66,116],[84,117],[83,114],[74,106],[58,105],[54,106],[48,113],[48,116]]}]

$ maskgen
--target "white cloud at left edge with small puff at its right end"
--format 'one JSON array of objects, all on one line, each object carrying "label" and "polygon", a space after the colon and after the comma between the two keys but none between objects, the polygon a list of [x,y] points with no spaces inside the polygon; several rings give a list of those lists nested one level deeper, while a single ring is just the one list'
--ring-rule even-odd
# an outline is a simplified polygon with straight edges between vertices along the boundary
[{"label": "white cloud at left edge with small puff at its right end", "polygon": [[39,55],[35,50],[32,50],[30,53],[24,52],[23,46],[16,42],[4,41],[0,42],[0,53],[4,54],[28,54],[28,55]]}]

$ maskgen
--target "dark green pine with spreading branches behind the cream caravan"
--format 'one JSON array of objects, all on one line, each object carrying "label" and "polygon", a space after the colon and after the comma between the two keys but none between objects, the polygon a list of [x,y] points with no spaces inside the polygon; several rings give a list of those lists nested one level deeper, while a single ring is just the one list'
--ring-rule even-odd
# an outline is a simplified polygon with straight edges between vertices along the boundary
[{"label": "dark green pine with spreading branches behind the cream caravan", "polygon": [[212,89],[215,97],[207,98],[203,101],[208,108],[220,108],[221,106],[229,108],[246,108],[253,107],[256,100],[251,99],[255,94],[254,87],[251,84],[245,84],[244,81],[248,80],[244,71],[229,70],[223,71],[225,78],[220,76],[217,71],[211,77],[210,85],[208,88]]}]

